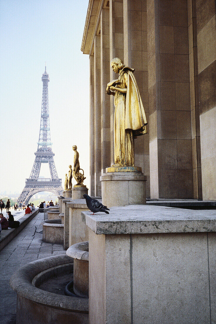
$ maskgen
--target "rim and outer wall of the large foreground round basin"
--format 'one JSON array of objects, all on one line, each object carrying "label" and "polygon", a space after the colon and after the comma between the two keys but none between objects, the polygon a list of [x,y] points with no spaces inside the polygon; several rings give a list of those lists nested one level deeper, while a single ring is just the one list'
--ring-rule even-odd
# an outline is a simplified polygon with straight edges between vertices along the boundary
[{"label": "rim and outer wall of the large foreground round basin", "polygon": [[45,291],[37,286],[50,278],[69,273],[73,262],[66,254],[26,264],[15,272],[10,285],[17,292],[17,324],[88,323],[88,299]]}]

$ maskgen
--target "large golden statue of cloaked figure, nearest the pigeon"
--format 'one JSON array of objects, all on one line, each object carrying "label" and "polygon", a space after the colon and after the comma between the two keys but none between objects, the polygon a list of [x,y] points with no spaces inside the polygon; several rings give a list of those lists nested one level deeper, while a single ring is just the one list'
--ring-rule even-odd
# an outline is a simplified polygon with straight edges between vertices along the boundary
[{"label": "large golden statue of cloaked figure, nearest the pigeon", "polygon": [[114,58],[111,68],[119,73],[110,81],[106,93],[114,96],[114,160],[113,167],[134,166],[134,138],[147,133],[147,120],[140,92],[134,78],[134,69]]}]

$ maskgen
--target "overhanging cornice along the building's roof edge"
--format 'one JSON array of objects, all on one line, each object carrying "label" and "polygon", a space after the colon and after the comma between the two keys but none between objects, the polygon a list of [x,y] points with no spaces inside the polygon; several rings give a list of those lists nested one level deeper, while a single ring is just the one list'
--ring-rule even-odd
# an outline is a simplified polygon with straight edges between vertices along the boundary
[{"label": "overhanging cornice along the building's roof edge", "polygon": [[89,0],[81,51],[90,54],[105,0]]}]

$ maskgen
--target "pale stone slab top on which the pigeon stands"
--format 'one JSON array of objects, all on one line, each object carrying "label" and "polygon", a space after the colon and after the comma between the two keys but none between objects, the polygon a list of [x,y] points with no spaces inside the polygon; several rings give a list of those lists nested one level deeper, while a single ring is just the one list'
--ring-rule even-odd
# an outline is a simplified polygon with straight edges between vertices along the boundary
[{"label": "pale stone slab top on which the pigeon stands", "polygon": [[112,207],[109,214],[81,214],[96,234],[216,232],[216,210],[129,205]]}]

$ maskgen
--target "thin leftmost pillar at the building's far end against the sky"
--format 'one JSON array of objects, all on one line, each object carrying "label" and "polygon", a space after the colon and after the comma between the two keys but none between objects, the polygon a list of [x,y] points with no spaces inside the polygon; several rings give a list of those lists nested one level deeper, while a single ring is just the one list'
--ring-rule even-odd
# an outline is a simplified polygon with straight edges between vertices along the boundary
[{"label": "thin leftmost pillar at the building's far end against the sky", "polygon": [[89,56],[89,102],[90,102],[90,195],[95,195],[95,92],[94,92],[94,56]]}]

